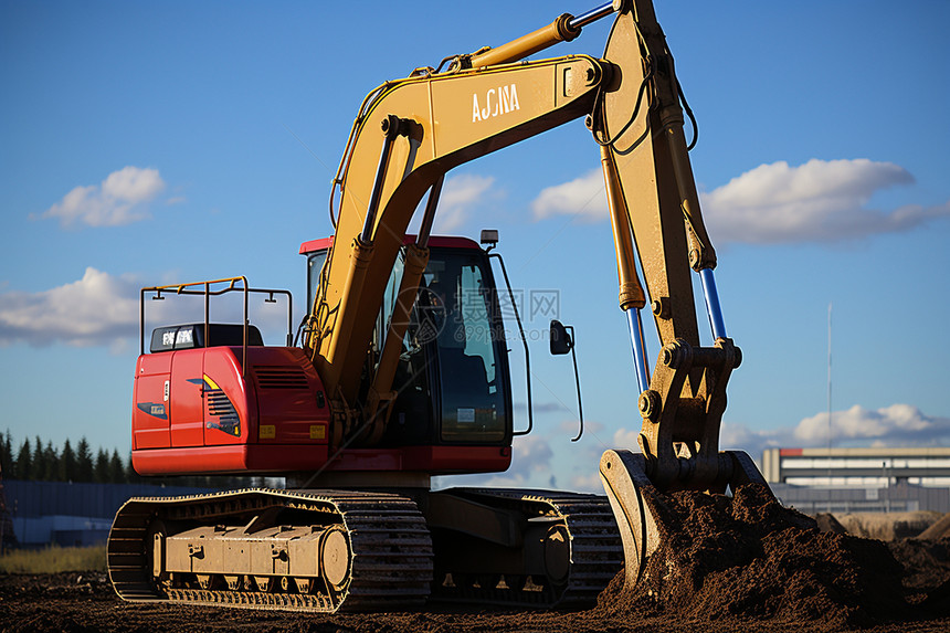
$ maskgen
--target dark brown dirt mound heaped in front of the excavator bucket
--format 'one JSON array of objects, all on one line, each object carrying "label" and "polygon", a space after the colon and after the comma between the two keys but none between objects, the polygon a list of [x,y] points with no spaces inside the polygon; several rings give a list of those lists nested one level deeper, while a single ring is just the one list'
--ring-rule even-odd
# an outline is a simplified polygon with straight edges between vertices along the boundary
[{"label": "dark brown dirt mound heaped in front of the excavator bucket", "polygon": [[822,532],[764,487],[740,487],[735,498],[664,495],[658,513],[675,528],[634,590],[624,591],[619,576],[601,594],[600,610],[832,629],[907,615],[901,566],[883,542]]}]

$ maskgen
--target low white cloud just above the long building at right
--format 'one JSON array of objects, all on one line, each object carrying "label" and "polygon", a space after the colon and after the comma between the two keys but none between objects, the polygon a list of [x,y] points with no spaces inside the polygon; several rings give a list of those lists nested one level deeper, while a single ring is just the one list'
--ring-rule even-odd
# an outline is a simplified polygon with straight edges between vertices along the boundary
[{"label": "low white cloud just above the long building at right", "polygon": [[[935,446],[950,443],[950,418],[922,413],[910,404],[891,404],[869,410],[855,404],[832,412],[834,446]],[[827,412],[805,418],[796,425],[756,431],[742,424],[722,423],[719,445],[739,449],[756,460],[764,449],[827,446]]]}]

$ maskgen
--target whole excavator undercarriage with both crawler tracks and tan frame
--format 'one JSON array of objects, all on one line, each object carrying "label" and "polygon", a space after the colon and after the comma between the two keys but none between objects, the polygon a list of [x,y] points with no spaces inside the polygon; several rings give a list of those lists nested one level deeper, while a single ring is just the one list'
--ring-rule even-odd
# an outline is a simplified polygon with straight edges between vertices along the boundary
[{"label": "whole excavator undercarriage with both crawler tracks and tan frame", "polygon": [[592,603],[623,549],[606,499],[453,488],[133,498],[108,540],[128,601],[336,612],[426,600]]}]

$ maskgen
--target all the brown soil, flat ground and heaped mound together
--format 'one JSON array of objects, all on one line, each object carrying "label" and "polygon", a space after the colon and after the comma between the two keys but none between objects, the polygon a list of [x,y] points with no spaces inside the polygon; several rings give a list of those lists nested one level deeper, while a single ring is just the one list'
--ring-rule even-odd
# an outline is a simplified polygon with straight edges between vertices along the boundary
[{"label": "all the brown soil, flat ground and heaped mound together", "polygon": [[948,631],[950,537],[820,531],[763,489],[662,498],[669,530],[635,590],[623,573],[581,612],[430,605],[313,615],[122,602],[102,573],[0,576],[0,631]]}]

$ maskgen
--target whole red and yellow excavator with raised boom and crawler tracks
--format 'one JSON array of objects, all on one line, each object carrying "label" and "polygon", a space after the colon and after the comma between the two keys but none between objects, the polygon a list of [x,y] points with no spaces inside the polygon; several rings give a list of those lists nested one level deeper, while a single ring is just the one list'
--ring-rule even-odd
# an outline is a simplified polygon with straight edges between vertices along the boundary
[{"label": "whole red and yellow excavator with raised boom and crawler tracks", "polygon": [[[526,60],[609,17],[602,57]],[[718,447],[741,354],[719,306],[684,109],[692,117],[650,0],[566,13],[372,91],[334,179],[334,235],[300,246],[308,310],[296,334],[289,293],[245,277],[142,288],[135,470],[286,486],[129,499],[107,542],[118,595],[313,612],[590,604],[621,568],[635,584],[676,529],[663,519],[663,493],[764,484],[748,455]],[[579,118],[603,168],[638,447],[603,454],[605,497],[433,489],[433,476],[505,471],[514,437],[531,431],[530,415],[526,429],[514,424],[497,232],[482,244],[431,234],[445,175]],[[694,272],[710,347],[699,341]],[[146,299],[189,295],[204,320],[156,328],[146,350]],[[241,323],[211,319],[222,295],[243,298]],[[286,345],[263,345],[250,324],[260,295],[286,297]],[[652,371],[647,297],[662,345]],[[564,327],[552,331],[551,350],[569,350]]]}]

